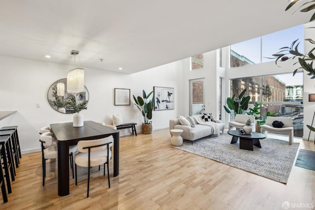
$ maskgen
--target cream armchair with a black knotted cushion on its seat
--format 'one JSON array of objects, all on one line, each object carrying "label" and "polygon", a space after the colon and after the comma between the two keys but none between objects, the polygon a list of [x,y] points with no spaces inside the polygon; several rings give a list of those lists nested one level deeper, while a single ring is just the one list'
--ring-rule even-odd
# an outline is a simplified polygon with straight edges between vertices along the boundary
[{"label": "cream armchair with a black knotted cushion on its seat", "polygon": [[[282,128],[274,128],[272,126],[273,121],[278,120],[284,123]],[[292,138],[294,136],[293,122],[290,117],[271,117],[266,118],[266,123],[260,126],[260,133],[265,134],[267,137],[267,131],[277,134],[288,134],[289,145],[292,144]]]}]

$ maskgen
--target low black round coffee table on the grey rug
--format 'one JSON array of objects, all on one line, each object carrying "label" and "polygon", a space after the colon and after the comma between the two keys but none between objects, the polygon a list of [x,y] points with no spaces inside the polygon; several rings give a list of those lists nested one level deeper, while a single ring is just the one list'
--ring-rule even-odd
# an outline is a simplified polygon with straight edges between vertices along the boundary
[{"label": "low black round coffee table on the grey rug", "polygon": [[261,133],[252,132],[251,134],[240,134],[238,131],[228,131],[229,135],[233,136],[231,143],[236,143],[240,138],[240,149],[247,149],[253,151],[253,145],[261,148],[259,139],[265,139],[266,136]]}]

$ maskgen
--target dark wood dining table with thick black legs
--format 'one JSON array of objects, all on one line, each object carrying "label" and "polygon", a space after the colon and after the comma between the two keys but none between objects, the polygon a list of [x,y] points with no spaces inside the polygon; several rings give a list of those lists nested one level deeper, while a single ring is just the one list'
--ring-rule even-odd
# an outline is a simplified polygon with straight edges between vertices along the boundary
[{"label": "dark wood dining table with thick black legs", "polygon": [[69,146],[80,140],[114,138],[114,176],[119,175],[119,131],[94,121],[84,121],[84,126],[73,127],[72,122],[50,125],[58,144],[58,195],[69,195]]}]

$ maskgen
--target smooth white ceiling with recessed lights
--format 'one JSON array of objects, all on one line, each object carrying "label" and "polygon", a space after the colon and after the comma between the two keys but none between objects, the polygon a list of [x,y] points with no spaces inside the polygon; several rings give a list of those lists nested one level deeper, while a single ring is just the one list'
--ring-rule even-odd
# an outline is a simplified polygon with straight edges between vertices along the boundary
[{"label": "smooth white ceiling with recessed lights", "polygon": [[80,51],[85,68],[133,73],[308,22],[311,14],[292,15],[294,8],[284,11],[287,4],[287,0],[1,0],[0,55],[73,64],[74,49]]}]

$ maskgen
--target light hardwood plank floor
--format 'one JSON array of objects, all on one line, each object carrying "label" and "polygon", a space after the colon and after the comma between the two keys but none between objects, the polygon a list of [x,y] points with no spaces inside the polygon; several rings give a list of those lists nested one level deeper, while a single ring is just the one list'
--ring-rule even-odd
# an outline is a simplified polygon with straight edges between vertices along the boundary
[{"label": "light hardwood plank floor", "polygon": [[[314,141],[299,141],[299,148],[315,151]],[[119,176],[113,177],[110,164],[111,188],[96,167],[86,198],[87,174],[80,168],[78,185],[70,178],[70,195],[59,197],[56,162],[47,163],[43,187],[41,153],[25,154],[0,209],[282,210],[284,201],[315,208],[314,171],[293,165],[282,184],[175,149],[168,129],[121,137],[120,158]]]}]

